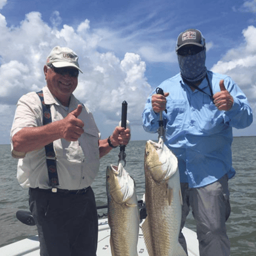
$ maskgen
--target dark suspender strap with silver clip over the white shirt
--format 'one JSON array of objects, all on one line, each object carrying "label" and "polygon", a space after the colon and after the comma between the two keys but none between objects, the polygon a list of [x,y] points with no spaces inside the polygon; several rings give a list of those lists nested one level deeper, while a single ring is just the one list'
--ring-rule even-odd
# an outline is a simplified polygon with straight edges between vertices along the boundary
[{"label": "dark suspender strap with silver clip over the white shirt", "polygon": [[[39,96],[42,103],[43,125],[47,125],[48,123],[52,122],[51,108],[49,105],[45,104],[43,100],[43,91],[39,91],[37,95]],[[57,192],[57,186],[59,185],[59,183],[58,183],[56,156],[53,148],[53,142],[45,146],[45,154],[46,154],[46,162],[47,162],[50,186],[53,187],[52,192]]]}]

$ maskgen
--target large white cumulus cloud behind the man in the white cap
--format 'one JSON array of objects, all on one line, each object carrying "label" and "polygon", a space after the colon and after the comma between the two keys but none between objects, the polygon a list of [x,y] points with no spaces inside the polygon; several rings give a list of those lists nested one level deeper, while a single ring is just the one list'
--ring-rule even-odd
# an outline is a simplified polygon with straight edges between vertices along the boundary
[{"label": "large white cumulus cloud behind the man in the white cap", "polygon": [[[49,26],[39,12],[30,12],[19,26],[9,28],[0,14],[0,104],[13,110],[20,96],[45,86],[43,66],[51,49],[60,45],[79,56],[83,70],[75,91],[79,100],[93,112],[103,114],[108,123],[120,120],[121,102],[126,100],[129,121],[140,124],[146,97],[152,90],[140,56],[126,53],[120,58],[110,51],[100,53],[101,37],[91,31],[89,20],[77,28],[64,24],[60,30],[56,26],[62,22],[58,12],[53,13],[51,21]],[[11,120],[13,115],[6,118]]]}]

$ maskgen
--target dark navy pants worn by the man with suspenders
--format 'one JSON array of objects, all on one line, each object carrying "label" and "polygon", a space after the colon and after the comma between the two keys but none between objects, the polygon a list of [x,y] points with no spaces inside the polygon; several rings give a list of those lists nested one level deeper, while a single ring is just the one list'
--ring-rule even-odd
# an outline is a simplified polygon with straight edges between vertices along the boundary
[{"label": "dark navy pants worn by the man with suspenders", "polygon": [[98,217],[91,187],[84,194],[30,188],[41,256],[95,256]]}]

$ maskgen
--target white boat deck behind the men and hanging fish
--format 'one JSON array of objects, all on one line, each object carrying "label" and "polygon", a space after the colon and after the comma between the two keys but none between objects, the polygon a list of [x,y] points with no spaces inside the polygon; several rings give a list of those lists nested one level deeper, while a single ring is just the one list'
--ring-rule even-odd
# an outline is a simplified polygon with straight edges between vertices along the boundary
[{"label": "white boat deck behind the men and hanging fish", "polygon": [[[188,256],[199,256],[196,233],[188,228],[182,230],[188,246]],[[139,231],[138,255],[148,256],[142,230]],[[0,248],[1,256],[39,256],[38,236],[32,236]],[[98,220],[97,256],[111,256],[110,227],[107,219]]]}]

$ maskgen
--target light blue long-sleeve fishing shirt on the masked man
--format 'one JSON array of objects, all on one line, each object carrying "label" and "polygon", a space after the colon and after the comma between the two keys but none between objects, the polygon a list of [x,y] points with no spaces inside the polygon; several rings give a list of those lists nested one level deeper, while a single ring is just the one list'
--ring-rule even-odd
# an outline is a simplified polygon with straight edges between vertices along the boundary
[{"label": "light blue long-sleeve fishing shirt on the masked man", "polygon": [[[171,77],[159,86],[167,96],[167,114],[163,112],[165,123],[165,144],[179,161],[181,182],[188,182],[190,188],[211,184],[226,173],[235,175],[232,167],[232,127],[242,129],[253,121],[253,115],[246,96],[226,75],[207,71],[213,95],[221,91],[219,81],[234,98],[228,111],[220,111],[213,104],[207,79],[203,79],[200,89],[192,91],[180,74]],[[152,93],[156,94],[156,91]],[[142,114],[143,127],[149,133],[156,133],[160,114],[152,110],[149,96]]]}]

